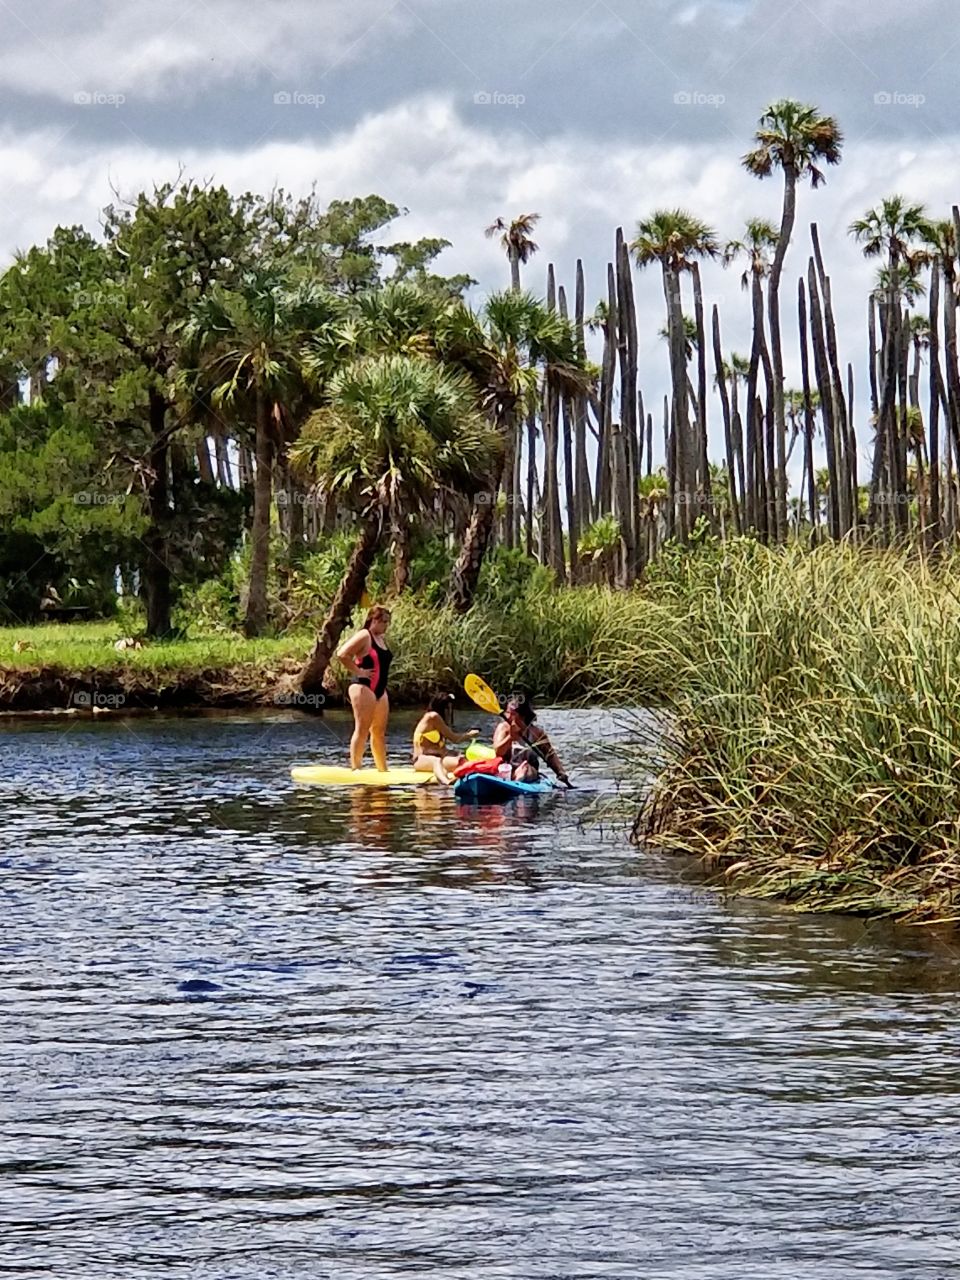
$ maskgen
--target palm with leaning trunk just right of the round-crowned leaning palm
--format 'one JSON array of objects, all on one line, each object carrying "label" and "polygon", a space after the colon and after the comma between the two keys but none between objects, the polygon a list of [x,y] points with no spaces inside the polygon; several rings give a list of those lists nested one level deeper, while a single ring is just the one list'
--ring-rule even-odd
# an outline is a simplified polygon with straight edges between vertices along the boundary
[{"label": "palm with leaning trunk just right of the round-crowned leaning palm", "polygon": [[582,394],[591,379],[573,326],[529,293],[494,293],[481,312],[463,305],[448,307],[439,320],[436,342],[440,358],[472,379],[502,443],[451,575],[451,603],[466,612],[490,541],[497,490],[502,477],[511,475],[524,410],[536,403],[541,380],[557,392]]}]

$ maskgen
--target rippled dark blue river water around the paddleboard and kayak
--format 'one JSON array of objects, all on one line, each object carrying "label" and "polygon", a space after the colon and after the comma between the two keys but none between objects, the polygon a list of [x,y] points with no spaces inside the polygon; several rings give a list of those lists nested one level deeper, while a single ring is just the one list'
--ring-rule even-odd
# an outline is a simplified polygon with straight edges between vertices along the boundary
[{"label": "rippled dark blue river water around the paddleboard and kayak", "polygon": [[337,716],[0,727],[0,1275],[957,1274],[950,940],[637,858],[541,719],[581,790],[472,812],[292,786]]}]

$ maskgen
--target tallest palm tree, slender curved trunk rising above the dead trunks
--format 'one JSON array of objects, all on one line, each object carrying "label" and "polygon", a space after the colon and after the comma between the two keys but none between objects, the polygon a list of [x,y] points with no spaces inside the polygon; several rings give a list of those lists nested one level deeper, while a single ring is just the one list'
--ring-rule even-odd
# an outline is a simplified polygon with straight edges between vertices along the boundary
[{"label": "tallest palm tree, slender curved trunk rising above the dead trunks", "polygon": [[817,188],[824,182],[819,164],[840,164],[844,134],[832,115],[822,115],[815,106],[781,99],[771,102],[759,119],[754,134],[756,146],[742,157],[742,165],[755,178],[768,178],[774,169],[783,174],[783,206],[777,250],[771,264],[767,308],[771,325],[773,358],[773,420],[777,462],[777,530],[786,535],[786,420],[783,415],[783,348],[780,337],[780,280],[783,260],[796,220],[796,184],[804,178]]}]

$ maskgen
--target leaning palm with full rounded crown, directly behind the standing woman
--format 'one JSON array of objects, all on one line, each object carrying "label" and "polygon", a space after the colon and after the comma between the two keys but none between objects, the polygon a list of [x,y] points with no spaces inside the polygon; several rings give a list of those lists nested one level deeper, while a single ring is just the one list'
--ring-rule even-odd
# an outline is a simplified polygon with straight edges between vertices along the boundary
[{"label": "leaning palm with full rounded crown, directly behind the standing woman", "polygon": [[498,449],[462,371],[428,356],[381,355],[334,374],[328,403],[311,415],[291,460],[324,495],[356,512],[360,532],[301,675],[305,692],[323,689],[385,525],[431,508],[438,493],[475,493]]}]

